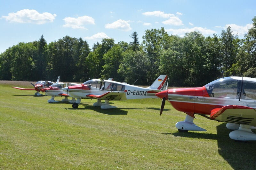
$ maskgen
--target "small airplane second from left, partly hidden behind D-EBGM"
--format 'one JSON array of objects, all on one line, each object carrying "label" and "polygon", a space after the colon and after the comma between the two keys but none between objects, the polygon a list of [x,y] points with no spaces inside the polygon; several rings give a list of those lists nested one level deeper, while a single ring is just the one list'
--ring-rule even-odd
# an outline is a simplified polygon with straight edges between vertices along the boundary
[{"label": "small airplane second from left, partly hidden behind D-EBGM", "polygon": [[[109,78],[108,80],[113,80],[112,78]],[[72,100],[68,100],[68,94],[67,91],[61,90],[62,88],[69,87],[69,86],[75,86],[75,85],[80,85],[77,83],[63,83],[63,82],[58,82],[55,84],[52,84],[48,88],[41,89],[42,92],[45,92],[46,96],[52,96],[51,99],[49,99],[47,102],[48,103],[57,103],[58,101],[54,100],[55,96],[64,96],[65,98],[61,100],[61,102],[68,102],[69,103],[76,103],[76,99],[73,97]]]}]

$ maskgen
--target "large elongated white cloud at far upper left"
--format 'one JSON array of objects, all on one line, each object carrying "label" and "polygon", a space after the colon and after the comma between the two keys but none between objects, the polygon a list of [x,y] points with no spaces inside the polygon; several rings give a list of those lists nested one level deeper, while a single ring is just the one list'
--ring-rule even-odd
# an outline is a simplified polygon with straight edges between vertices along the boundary
[{"label": "large elongated white cloud at far upper left", "polygon": [[9,22],[45,24],[53,22],[56,16],[56,14],[48,12],[39,13],[36,10],[24,9],[16,13],[8,13],[8,16],[2,16],[1,18],[5,18]]}]

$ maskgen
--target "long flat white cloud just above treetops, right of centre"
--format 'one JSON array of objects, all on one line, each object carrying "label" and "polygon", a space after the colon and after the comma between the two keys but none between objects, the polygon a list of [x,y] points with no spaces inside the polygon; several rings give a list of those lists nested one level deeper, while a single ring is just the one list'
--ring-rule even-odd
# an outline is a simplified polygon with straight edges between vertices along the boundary
[{"label": "long flat white cloud just above treetops, right of centre", "polygon": [[180,29],[167,29],[167,32],[171,32],[173,35],[184,36],[186,32],[199,31],[203,35],[212,35],[217,33],[216,31],[202,28],[202,27],[194,27],[194,28],[180,28]]}]

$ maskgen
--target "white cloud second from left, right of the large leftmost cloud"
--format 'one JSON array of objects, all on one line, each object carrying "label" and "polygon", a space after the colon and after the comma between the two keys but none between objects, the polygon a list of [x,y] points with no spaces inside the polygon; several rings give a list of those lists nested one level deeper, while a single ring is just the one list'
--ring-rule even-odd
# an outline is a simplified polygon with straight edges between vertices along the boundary
[{"label": "white cloud second from left, right of the large leftmost cloud", "polygon": [[[94,19],[89,16],[82,16],[82,17],[77,17],[77,18],[72,18],[72,17],[66,17],[63,19],[65,21],[65,24],[63,27],[71,27],[74,29],[86,29],[84,27],[85,24],[95,24]],[[86,29],[87,30],[87,29]]]}]

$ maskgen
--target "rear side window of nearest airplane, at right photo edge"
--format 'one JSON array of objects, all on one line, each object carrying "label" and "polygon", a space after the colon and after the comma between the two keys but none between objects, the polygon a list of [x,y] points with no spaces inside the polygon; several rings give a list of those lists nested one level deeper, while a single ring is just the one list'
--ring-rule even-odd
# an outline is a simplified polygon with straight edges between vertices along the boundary
[{"label": "rear side window of nearest airplane, at right photo edge", "polygon": [[244,89],[241,95],[241,99],[256,100],[256,82],[244,81],[243,87]]}]

